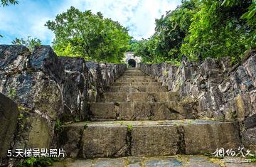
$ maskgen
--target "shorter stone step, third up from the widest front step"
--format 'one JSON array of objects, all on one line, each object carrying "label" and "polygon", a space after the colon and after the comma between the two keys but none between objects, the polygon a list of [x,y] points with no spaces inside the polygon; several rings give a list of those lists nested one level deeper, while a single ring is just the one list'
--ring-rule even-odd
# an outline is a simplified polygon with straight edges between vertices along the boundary
[{"label": "shorter stone step, third up from the widest front step", "polygon": [[[149,82],[150,83],[150,82]],[[178,101],[178,92],[105,92],[102,102]]]}]

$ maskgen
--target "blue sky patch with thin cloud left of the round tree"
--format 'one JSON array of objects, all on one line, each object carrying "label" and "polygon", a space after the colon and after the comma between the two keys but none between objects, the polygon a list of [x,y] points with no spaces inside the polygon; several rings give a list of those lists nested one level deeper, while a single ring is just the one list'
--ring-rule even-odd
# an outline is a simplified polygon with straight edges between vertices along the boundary
[{"label": "blue sky patch with thin cloud left of the round tree", "polygon": [[0,38],[0,43],[10,44],[16,37],[26,39],[31,36],[50,44],[53,33],[44,24],[52,19],[52,16],[49,10],[40,6],[36,1],[20,1],[16,6],[1,8],[0,34],[4,35],[4,38]]}]

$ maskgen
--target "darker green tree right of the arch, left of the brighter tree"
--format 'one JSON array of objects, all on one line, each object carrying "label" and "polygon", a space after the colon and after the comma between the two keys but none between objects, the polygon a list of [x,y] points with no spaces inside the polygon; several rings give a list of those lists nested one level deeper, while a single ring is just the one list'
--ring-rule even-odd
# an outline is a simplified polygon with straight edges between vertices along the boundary
[{"label": "darker green tree right of the arch, left of the brighter tree", "polygon": [[156,19],[158,56],[170,59],[181,58],[181,44],[188,34],[191,18],[196,13],[195,7],[194,1],[182,1],[181,6],[178,6],[177,9]]}]

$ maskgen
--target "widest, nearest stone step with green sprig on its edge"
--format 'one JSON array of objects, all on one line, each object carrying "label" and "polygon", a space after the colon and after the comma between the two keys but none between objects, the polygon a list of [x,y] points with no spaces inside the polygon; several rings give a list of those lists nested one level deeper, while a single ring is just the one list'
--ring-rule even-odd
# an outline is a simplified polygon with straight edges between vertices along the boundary
[{"label": "widest, nearest stone step with green sprig on its edge", "polygon": [[238,122],[206,120],[79,122],[62,126],[69,157],[171,156],[238,150]]}]

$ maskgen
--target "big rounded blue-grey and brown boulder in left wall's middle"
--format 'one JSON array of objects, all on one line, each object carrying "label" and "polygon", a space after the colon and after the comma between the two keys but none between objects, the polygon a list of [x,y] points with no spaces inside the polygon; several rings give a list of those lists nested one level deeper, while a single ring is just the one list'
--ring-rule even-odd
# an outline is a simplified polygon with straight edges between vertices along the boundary
[{"label": "big rounded blue-grey and brown boulder in left wall's middle", "polygon": [[43,72],[21,72],[11,75],[3,90],[23,107],[33,108],[56,119],[62,109],[58,85]]}]

